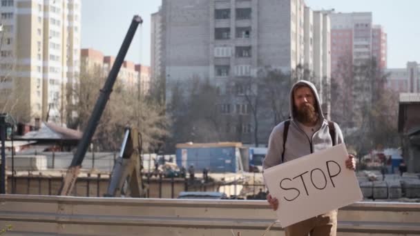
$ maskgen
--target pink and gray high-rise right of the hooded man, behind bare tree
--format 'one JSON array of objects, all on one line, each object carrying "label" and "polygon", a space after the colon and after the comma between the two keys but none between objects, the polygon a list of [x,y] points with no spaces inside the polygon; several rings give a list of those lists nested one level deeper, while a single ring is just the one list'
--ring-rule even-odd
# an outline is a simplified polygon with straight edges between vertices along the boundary
[{"label": "pink and gray high-rise right of the hooded man, behind bare tree", "polygon": [[330,19],[331,70],[338,91],[332,100],[335,111],[346,110],[338,112],[338,117],[334,119],[347,117],[343,127],[352,128],[360,123],[358,112],[361,112],[362,106],[370,106],[366,101],[372,101],[372,91],[376,89],[367,83],[363,65],[375,62],[376,72],[386,68],[386,34],[381,26],[373,25],[372,12],[331,10]]}]

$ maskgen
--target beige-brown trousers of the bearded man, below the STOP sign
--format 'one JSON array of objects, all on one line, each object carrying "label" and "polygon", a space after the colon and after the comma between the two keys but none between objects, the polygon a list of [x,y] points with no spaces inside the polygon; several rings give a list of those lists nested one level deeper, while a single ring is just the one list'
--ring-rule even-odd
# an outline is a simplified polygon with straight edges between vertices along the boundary
[{"label": "beige-brown trousers of the bearded man, below the STOP sign", "polygon": [[287,226],[285,233],[286,236],[336,236],[337,210]]}]

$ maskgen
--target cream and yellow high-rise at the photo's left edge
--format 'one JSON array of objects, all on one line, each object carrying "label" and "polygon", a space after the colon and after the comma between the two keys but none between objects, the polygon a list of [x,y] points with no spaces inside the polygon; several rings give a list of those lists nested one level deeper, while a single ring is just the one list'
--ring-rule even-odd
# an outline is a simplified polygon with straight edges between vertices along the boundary
[{"label": "cream and yellow high-rise at the photo's left edge", "polygon": [[0,89],[3,104],[26,111],[17,119],[66,124],[66,89],[79,73],[80,7],[79,0],[1,1]]}]

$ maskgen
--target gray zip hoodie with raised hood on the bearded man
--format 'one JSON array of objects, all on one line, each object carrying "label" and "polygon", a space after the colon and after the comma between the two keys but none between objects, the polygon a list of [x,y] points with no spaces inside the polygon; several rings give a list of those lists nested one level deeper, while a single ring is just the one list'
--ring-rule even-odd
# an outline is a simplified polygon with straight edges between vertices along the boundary
[{"label": "gray zip hoodie with raised hood on the bearded man", "polygon": [[[314,92],[314,96],[316,97],[316,104],[318,106],[318,125],[316,127],[321,127],[314,132],[312,137],[307,137],[305,132],[302,128],[300,128],[298,122],[295,120],[294,117],[294,106],[293,106],[293,90],[294,87],[298,83],[305,83],[309,88],[312,89]],[[323,150],[325,148],[329,148],[332,146],[332,140],[330,135],[330,130],[328,128],[327,119],[325,119],[322,109],[321,103],[319,102],[318,92],[316,92],[316,88],[313,83],[305,80],[300,80],[292,86],[292,90],[290,90],[290,105],[289,105],[289,112],[290,112],[290,125],[289,131],[287,132],[287,140],[285,143],[285,161],[291,161],[298,157],[303,157],[305,155],[309,155],[311,153],[315,153],[318,150]],[[281,155],[283,153],[283,130],[285,128],[285,121],[278,124],[276,127],[273,128],[271,131],[271,135],[269,137],[269,144],[267,155],[265,156],[264,161],[262,162],[262,168],[269,168],[271,166],[276,166],[281,164]],[[335,133],[336,133],[336,144],[343,143],[343,133],[341,132],[340,127],[336,123],[334,123]]]}]

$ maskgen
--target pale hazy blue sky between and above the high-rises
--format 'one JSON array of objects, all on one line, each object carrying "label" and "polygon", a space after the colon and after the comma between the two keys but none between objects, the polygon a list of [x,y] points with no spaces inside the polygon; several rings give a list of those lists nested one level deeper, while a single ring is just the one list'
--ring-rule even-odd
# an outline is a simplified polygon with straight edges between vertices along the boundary
[{"label": "pale hazy blue sky between and above the high-rises", "polygon": [[[372,12],[373,23],[382,25],[388,34],[388,68],[404,68],[407,61],[420,62],[420,0],[305,0],[305,3],[313,10]],[[151,14],[160,5],[160,0],[83,1],[82,48],[117,55],[133,15],[139,14],[144,23],[136,32],[126,59],[150,65]]]}]

